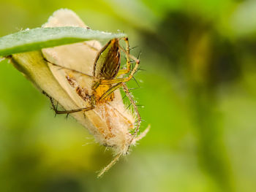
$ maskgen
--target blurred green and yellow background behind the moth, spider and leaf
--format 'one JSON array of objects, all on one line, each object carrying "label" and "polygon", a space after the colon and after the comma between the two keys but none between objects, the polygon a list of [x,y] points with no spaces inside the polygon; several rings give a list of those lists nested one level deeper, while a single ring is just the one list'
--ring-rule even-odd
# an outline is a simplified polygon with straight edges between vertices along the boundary
[{"label": "blurred green and yellow background behind the moth, spider and leaf", "polygon": [[0,36],[59,8],[142,51],[132,93],[151,131],[97,179],[110,151],[1,61],[0,191],[255,191],[256,1],[0,0]]}]

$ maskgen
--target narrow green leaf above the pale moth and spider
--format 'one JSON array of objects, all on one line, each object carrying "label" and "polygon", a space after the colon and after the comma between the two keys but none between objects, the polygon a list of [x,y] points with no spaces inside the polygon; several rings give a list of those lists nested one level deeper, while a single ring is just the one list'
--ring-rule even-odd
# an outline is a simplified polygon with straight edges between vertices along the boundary
[{"label": "narrow green leaf above the pale moth and spider", "polygon": [[40,50],[46,47],[83,42],[91,39],[113,39],[126,34],[111,34],[81,27],[33,28],[0,38],[0,56]]}]

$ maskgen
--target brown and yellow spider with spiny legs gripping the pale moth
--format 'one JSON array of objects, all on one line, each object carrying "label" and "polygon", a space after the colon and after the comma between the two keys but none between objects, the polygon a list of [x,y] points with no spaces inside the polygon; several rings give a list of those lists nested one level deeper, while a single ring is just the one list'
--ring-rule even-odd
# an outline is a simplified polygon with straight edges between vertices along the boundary
[{"label": "brown and yellow spider with spiny legs gripping the pale moth", "polygon": [[[80,111],[85,112],[85,111],[93,110],[95,105],[98,103],[113,101],[113,98],[114,98],[113,92],[116,91],[116,89],[123,87],[124,92],[127,94],[127,97],[129,98],[129,101],[132,103],[133,107],[135,107],[135,111],[138,115],[137,123],[138,124],[141,123],[138,107],[136,106],[135,101],[132,99],[132,96],[129,93],[129,89],[125,84],[125,82],[128,82],[129,80],[132,79],[133,75],[138,70],[140,61],[138,58],[135,58],[135,56],[129,54],[128,37],[124,37],[121,39],[124,39],[124,42],[127,45],[126,50],[124,50],[123,47],[119,46],[120,39],[111,39],[104,47],[102,47],[101,50],[99,50],[99,53],[97,53],[97,57],[94,61],[93,76],[89,74],[84,74],[82,72],[78,72],[74,69],[69,69],[67,67],[60,66],[61,68],[69,69],[73,72],[78,72],[82,75],[86,75],[88,77],[94,78],[94,85],[91,87],[91,90],[93,90],[93,95],[91,96],[91,106],[79,108],[75,110],[64,110],[64,111],[58,110],[56,105],[53,104],[53,98],[50,97],[47,93],[45,93],[45,91],[43,91],[43,93],[50,98],[50,101],[53,105],[53,110],[56,112],[56,114],[69,114],[72,112],[80,112]],[[124,53],[126,54],[127,69],[120,69],[120,61],[121,61],[120,49],[123,50]],[[130,58],[132,58],[133,61],[130,61]],[[45,61],[47,61],[50,64],[53,64],[46,59]],[[131,64],[134,62],[135,62],[135,67],[131,71]],[[59,66],[57,64],[53,64],[53,65]],[[128,77],[116,78],[120,75],[124,75],[128,73],[129,73]],[[135,133],[137,132],[138,131],[135,131]]]}]

